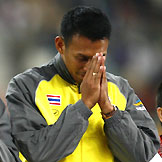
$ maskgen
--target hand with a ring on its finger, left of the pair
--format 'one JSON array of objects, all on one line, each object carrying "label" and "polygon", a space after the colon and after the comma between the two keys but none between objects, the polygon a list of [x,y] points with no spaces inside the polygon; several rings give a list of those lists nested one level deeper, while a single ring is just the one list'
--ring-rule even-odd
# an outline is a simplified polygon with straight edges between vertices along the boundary
[{"label": "hand with a ring on its finger, left of the pair", "polygon": [[[92,108],[98,102],[100,97],[100,82],[102,69],[101,56],[96,54],[89,63],[89,68],[80,85],[82,101],[88,108]],[[95,74],[95,75],[94,75]]]}]

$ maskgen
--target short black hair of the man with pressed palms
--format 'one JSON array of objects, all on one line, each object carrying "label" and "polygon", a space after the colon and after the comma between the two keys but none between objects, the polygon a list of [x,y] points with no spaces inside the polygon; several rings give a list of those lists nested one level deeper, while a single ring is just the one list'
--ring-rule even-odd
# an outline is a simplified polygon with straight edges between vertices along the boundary
[{"label": "short black hair of the man with pressed palms", "polygon": [[111,23],[100,9],[91,6],[78,6],[69,10],[61,22],[61,35],[68,43],[75,34],[92,41],[110,39]]}]

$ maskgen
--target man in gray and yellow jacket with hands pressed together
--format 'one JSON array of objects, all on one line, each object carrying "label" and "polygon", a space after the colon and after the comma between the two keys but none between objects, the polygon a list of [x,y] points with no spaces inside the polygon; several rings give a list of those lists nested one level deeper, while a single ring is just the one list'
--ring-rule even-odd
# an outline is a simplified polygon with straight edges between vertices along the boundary
[{"label": "man in gray and yellow jacket with hands pressed together", "polygon": [[17,147],[29,162],[147,162],[156,126],[122,77],[106,73],[111,25],[93,7],[63,17],[58,54],[9,83]]}]

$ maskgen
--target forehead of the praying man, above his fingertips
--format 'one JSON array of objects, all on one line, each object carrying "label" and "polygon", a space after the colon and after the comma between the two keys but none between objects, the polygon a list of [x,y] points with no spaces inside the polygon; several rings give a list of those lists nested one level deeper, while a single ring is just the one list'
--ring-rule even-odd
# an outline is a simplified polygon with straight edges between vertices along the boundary
[{"label": "forehead of the praying man, above his fingertips", "polygon": [[68,49],[81,54],[95,55],[96,53],[107,53],[109,40],[99,39],[92,41],[85,36],[76,34],[68,44]]}]

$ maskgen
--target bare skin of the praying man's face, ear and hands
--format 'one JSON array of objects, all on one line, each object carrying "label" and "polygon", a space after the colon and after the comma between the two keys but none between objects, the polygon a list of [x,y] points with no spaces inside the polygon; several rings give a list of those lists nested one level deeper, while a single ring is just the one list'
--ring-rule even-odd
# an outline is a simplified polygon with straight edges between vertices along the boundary
[{"label": "bare skin of the praying man's face, ear and hands", "polygon": [[89,109],[98,103],[104,113],[113,110],[108,99],[105,67],[108,44],[106,38],[91,41],[79,34],[75,34],[68,45],[65,45],[62,37],[55,38],[56,49],[71,76],[80,84],[82,101]]}]

